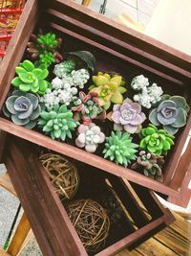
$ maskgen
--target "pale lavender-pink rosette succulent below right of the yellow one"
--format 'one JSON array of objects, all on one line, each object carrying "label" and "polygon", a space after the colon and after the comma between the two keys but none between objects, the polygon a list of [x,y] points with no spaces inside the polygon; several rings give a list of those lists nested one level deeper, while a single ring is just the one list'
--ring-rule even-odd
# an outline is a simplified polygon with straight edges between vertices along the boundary
[{"label": "pale lavender-pink rosette succulent below right of the yellow one", "polygon": [[125,129],[129,133],[139,132],[146,116],[141,112],[141,105],[126,99],[122,105],[114,105],[111,119],[115,130]]}]

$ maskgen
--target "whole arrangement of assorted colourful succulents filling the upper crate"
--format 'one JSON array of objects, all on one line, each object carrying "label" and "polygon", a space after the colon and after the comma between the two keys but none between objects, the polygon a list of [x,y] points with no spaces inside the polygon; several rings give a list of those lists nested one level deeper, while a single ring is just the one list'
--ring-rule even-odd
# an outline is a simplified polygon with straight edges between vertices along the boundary
[{"label": "whole arrangement of assorted colourful succulents filling the upper crate", "polygon": [[31,36],[29,59],[15,67],[4,115],[162,181],[166,155],[187,122],[186,99],[165,94],[143,75],[126,81],[117,72],[96,71],[87,51],[64,52],[63,60],[61,43],[53,33]]}]

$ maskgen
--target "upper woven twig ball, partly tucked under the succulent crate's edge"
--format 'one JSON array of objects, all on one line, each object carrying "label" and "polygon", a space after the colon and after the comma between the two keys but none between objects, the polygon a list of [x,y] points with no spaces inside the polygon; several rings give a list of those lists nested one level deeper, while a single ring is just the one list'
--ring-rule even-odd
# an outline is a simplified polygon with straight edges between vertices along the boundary
[{"label": "upper woven twig ball, partly tucked under the succulent crate's edge", "polygon": [[40,161],[51,178],[56,193],[62,199],[71,199],[77,191],[79,176],[74,164],[66,157],[45,153]]}]

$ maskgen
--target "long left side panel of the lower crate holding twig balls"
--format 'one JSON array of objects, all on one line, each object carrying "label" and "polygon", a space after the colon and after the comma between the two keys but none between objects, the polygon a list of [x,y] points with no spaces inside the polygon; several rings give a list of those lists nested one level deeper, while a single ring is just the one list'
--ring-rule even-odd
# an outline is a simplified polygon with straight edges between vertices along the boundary
[{"label": "long left side panel of the lower crate holding twig balls", "polygon": [[6,166],[44,255],[87,255],[35,152],[18,139],[9,149]]}]

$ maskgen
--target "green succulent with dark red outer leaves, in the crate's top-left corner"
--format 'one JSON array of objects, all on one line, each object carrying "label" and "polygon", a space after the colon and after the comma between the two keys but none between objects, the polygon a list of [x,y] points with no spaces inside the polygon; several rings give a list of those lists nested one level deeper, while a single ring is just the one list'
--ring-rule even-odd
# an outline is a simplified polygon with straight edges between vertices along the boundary
[{"label": "green succulent with dark red outer leaves, in the crate's top-left corner", "polygon": [[31,41],[28,43],[27,52],[32,59],[37,60],[39,63],[51,65],[53,62],[59,63],[63,58],[56,51],[62,42],[61,38],[56,38],[53,33],[39,35],[31,35]]}]

